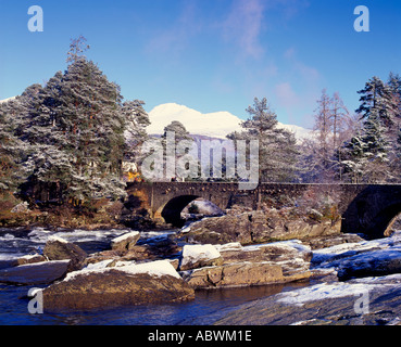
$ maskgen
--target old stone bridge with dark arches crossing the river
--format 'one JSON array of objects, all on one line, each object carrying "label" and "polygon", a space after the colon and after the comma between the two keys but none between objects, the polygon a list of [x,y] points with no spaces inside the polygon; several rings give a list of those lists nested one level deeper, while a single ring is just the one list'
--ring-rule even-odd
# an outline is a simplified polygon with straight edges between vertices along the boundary
[{"label": "old stone bridge with dark arches crossing the river", "polygon": [[380,237],[401,213],[401,184],[291,184],[260,183],[255,190],[239,190],[238,183],[152,182],[127,183],[130,197],[140,200],[153,218],[181,226],[180,211],[202,197],[221,209],[242,205],[258,209],[263,201],[272,207],[310,205],[326,201],[337,206],[342,232]]}]

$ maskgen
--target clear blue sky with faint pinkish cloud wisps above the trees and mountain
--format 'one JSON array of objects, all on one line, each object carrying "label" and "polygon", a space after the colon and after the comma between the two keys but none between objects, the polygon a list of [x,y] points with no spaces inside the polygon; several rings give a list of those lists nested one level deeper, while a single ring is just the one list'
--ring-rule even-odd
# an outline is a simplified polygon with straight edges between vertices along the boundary
[{"label": "clear blue sky with faint pinkish cloud wisps above the trees and mountain", "polygon": [[[27,28],[34,4],[43,33]],[[358,5],[369,9],[369,33],[353,28]],[[175,102],[245,119],[266,97],[279,121],[311,127],[324,88],[354,111],[369,78],[401,74],[401,1],[0,0],[0,100],[64,70],[79,35],[148,112]]]}]

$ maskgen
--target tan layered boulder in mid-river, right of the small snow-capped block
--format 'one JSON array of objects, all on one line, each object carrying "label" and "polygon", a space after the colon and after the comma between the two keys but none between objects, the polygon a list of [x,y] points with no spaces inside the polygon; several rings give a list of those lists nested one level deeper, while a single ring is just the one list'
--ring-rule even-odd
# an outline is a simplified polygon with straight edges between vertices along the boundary
[{"label": "tan layered boulder in mid-river, right of the small snow-capped block", "polygon": [[215,248],[222,259],[218,265],[181,272],[195,288],[286,283],[312,274],[311,248],[297,240],[250,246],[229,243]]}]

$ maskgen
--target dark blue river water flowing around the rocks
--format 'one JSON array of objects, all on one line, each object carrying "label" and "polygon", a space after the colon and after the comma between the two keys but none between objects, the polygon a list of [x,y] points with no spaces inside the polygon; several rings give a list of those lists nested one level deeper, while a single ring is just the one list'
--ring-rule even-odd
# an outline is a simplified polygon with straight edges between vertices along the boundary
[{"label": "dark blue river water flowing around the rocks", "polygon": [[[0,268],[7,268],[10,260],[27,254],[40,253],[50,235],[63,237],[79,245],[87,253],[108,249],[110,240],[124,233],[124,230],[98,231],[50,231],[35,228],[0,229]],[[139,242],[151,237],[163,237],[166,232],[145,232]],[[281,291],[305,284],[267,285],[245,288],[198,291],[190,303],[167,305],[142,305],[90,311],[30,314],[26,295],[30,286],[0,284],[0,324],[12,325],[177,325],[212,324],[241,304],[266,297]],[[40,286],[36,286],[40,287]]]}]

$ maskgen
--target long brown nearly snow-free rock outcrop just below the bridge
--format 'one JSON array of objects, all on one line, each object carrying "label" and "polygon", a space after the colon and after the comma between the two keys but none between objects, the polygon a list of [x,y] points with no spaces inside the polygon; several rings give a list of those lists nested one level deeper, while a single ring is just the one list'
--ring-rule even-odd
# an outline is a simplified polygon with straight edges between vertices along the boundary
[{"label": "long brown nearly snow-free rock outcrop just below the bridge", "polygon": [[192,223],[185,236],[192,243],[242,245],[339,234],[341,221],[293,217],[289,211],[268,209],[205,218]]}]

